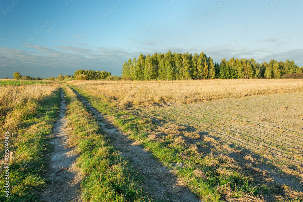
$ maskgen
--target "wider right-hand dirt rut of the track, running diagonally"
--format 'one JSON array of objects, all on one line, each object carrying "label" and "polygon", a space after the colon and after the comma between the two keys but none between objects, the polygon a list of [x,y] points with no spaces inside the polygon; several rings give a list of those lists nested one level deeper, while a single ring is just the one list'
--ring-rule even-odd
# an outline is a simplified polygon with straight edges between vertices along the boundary
[{"label": "wider right-hand dirt rut of the track, running diagonally", "polygon": [[104,118],[102,114],[93,108],[77,91],[71,88],[78,98],[95,114],[98,123],[107,131],[109,142],[119,151],[122,157],[129,159],[130,163],[144,177],[145,182],[140,186],[145,189],[155,200],[166,201],[202,201],[192,194],[184,183],[175,176],[176,171],[164,167],[152,154],[139,146],[138,141],[134,141],[127,134],[119,131],[112,124],[112,120]]}]

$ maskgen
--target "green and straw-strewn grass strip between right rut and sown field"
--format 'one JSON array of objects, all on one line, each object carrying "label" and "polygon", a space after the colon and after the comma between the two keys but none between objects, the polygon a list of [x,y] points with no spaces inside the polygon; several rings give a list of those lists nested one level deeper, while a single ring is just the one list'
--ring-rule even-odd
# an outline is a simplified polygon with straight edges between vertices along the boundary
[{"label": "green and straw-strewn grass strip between right rut and sown field", "polygon": [[[179,142],[178,139],[152,141],[147,138],[149,135],[147,131],[155,130],[157,128],[155,123],[121,109],[118,104],[103,95],[92,94],[81,88],[74,89],[102,114],[113,116],[116,126],[130,132],[131,138],[141,141],[142,146],[163,164],[183,162],[189,165],[177,168],[178,176],[205,201],[265,201],[258,195],[266,195],[267,201],[298,202],[302,199],[281,196],[280,194],[286,192],[285,187],[260,183],[252,173],[239,167],[237,162],[228,156],[196,153],[194,146],[178,144],[182,139]],[[186,153],[188,158],[182,159],[180,156],[182,153]]]}]

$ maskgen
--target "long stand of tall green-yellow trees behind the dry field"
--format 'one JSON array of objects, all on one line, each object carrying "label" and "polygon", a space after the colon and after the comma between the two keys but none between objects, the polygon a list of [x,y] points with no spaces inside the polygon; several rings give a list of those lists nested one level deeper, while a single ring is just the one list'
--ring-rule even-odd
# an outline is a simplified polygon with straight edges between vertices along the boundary
[{"label": "long stand of tall green-yellow trees behind the dry field", "polygon": [[302,73],[303,67],[286,60],[278,62],[271,59],[262,64],[255,59],[223,58],[214,63],[203,52],[195,53],[155,53],[141,54],[138,59],[131,58],[122,66],[122,76],[133,80],[188,80],[188,79],[236,79],[236,78],[281,78],[285,74]]}]

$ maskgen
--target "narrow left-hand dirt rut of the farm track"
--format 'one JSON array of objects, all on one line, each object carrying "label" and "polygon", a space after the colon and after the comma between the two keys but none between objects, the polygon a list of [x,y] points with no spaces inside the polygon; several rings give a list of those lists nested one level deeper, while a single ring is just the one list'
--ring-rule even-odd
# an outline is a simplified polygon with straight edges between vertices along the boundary
[{"label": "narrow left-hand dirt rut of the farm track", "polygon": [[68,120],[65,118],[66,104],[64,94],[61,94],[60,114],[53,127],[54,140],[50,141],[53,152],[50,155],[51,170],[48,172],[51,183],[43,190],[41,201],[72,201],[80,199],[80,182],[82,175],[75,167],[77,153],[75,147],[68,147],[69,138],[66,131]]}]

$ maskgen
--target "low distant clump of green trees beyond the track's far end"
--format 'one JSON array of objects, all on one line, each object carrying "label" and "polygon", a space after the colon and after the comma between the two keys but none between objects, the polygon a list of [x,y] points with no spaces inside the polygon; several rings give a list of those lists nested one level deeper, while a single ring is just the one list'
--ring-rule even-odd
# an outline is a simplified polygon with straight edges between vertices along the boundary
[{"label": "low distant clump of green trees beyond the track's far end", "polygon": [[78,69],[74,73],[74,78],[75,80],[98,80],[98,79],[105,79],[110,75],[112,74],[109,71],[105,71],[105,70],[94,71],[94,70]]}]

